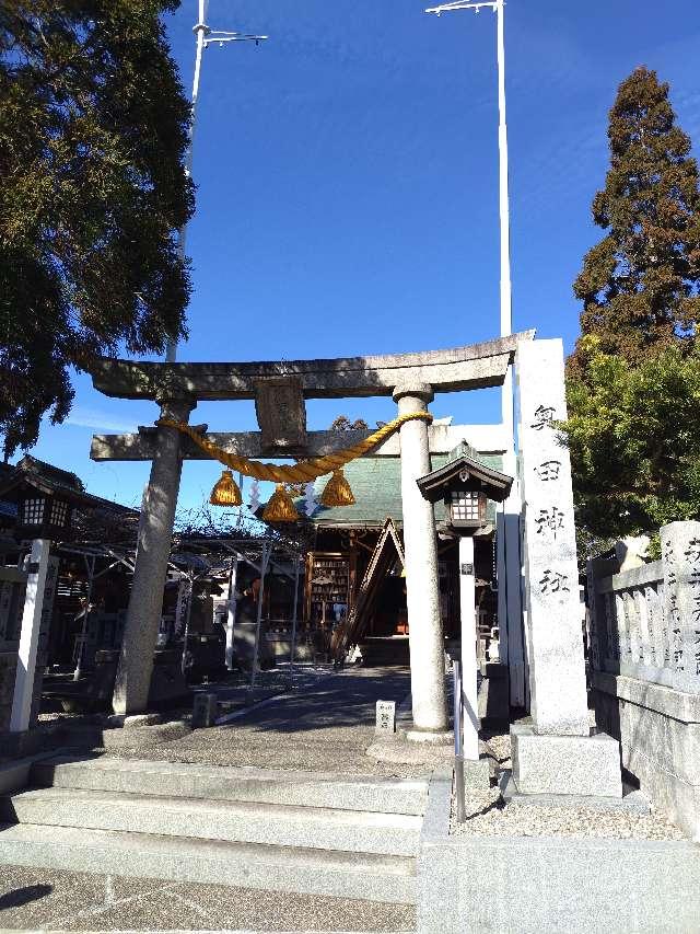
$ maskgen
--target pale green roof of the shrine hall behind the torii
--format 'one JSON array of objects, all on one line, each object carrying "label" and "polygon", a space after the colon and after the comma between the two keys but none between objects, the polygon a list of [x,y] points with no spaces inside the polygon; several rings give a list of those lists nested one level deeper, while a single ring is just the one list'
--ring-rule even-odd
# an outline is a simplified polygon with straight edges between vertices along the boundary
[{"label": "pale green roof of the shrine hall behind the torii", "polygon": [[[451,460],[448,454],[431,454],[431,469],[444,466]],[[493,470],[503,465],[501,454],[479,454],[479,460]],[[401,462],[399,458],[359,458],[351,461],[343,473],[354,495],[353,506],[318,506],[312,517],[315,526],[325,528],[382,528],[387,518],[397,524],[404,521],[401,508]],[[330,478],[320,476],[315,483],[316,496],[320,497],[324,486]],[[303,499],[296,505],[303,511]],[[435,504],[435,522],[445,521],[444,504]],[[487,521],[495,523],[495,505],[488,504]]]}]

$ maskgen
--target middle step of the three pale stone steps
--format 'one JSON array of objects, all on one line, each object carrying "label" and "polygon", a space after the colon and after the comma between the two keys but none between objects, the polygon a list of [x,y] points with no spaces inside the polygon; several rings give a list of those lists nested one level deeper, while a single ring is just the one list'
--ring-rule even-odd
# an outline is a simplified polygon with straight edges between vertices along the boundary
[{"label": "middle step of the three pale stone steps", "polygon": [[0,797],[0,820],[413,856],[422,818],[253,802],[30,788]]}]

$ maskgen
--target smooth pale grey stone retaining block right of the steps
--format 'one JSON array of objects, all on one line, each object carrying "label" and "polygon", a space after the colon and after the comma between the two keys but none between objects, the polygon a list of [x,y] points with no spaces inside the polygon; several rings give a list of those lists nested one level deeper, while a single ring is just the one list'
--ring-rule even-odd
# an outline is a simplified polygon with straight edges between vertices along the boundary
[{"label": "smooth pale grey stone retaining block right of the steps", "polygon": [[[430,785],[419,934],[690,934],[700,847],[686,841],[450,835],[451,783]],[[494,897],[489,897],[494,893]]]}]

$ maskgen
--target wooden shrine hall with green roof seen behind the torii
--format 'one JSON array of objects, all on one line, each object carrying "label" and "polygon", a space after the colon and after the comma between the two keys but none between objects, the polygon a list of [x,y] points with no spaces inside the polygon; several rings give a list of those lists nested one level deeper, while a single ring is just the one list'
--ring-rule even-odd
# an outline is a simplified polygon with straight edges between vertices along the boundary
[{"label": "wooden shrine hall with green roof seen behind the torii", "polygon": [[[451,426],[454,435],[474,431]],[[483,434],[483,433],[482,433]],[[479,453],[460,441],[447,454],[431,454],[433,471],[450,465],[478,472],[487,482],[503,477],[503,454]],[[359,644],[366,665],[409,664],[409,622],[402,544],[400,464],[397,458],[361,458],[349,464],[346,476],[355,503],[342,507],[318,506],[312,515],[314,544],[306,555],[304,625],[330,634],[346,629],[343,643]],[[510,484],[503,481],[503,488]],[[325,477],[316,483],[320,492]],[[502,500],[499,493],[494,494]],[[440,615],[445,648],[455,654],[460,638],[458,529],[460,514],[469,512],[475,545],[475,610],[479,653],[483,660],[499,658],[497,583],[497,503],[485,496],[465,497],[434,507],[438,549]],[[300,509],[302,500],[299,501]],[[336,642],[338,642],[336,639]],[[342,650],[343,646],[338,645]]]}]

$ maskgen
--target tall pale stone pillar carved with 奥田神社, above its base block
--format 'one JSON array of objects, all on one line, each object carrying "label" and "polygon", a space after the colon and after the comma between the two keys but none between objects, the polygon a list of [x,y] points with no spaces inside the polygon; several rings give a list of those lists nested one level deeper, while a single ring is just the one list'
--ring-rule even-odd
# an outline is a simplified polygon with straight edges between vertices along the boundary
[{"label": "tall pale stone pillar carved with \u5965\u7530\u795e\u793e, above its base block", "polygon": [[521,344],[517,380],[532,714],[537,733],[587,736],[561,341]]}]

